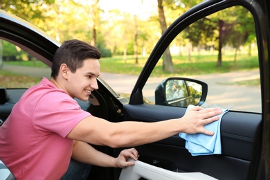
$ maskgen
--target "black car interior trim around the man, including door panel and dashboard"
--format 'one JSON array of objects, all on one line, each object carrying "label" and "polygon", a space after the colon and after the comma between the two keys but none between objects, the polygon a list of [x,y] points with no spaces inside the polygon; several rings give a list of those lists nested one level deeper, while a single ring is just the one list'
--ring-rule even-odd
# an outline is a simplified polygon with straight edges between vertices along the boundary
[{"label": "black car interior trim around the man, including door panel and dashboard", "polygon": [[[102,91],[100,89],[98,91]],[[1,89],[1,120],[6,120],[12,107],[24,91],[26,89]],[[111,119],[110,117],[115,117],[117,114],[119,119],[122,120],[154,122],[168,118],[179,118],[186,111],[185,108],[179,107],[143,104],[124,105],[121,114],[115,112],[114,115],[110,115],[109,112],[112,111],[108,111],[108,109],[115,109],[118,103],[105,100],[109,96],[101,96],[98,91],[93,92],[93,97],[91,97],[98,100],[98,105],[92,105],[88,101],[78,100],[78,102],[82,109],[90,111],[93,116],[106,118],[110,121],[115,121],[115,118]],[[5,100],[4,103],[3,100]],[[258,159],[260,158],[256,154],[260,150],[261,121],[261,114],[234,111],[224,114],[221,125],[222,154],[220,155],[191,156],[185,148],[185,141],[178,134],[156,143],[138,146],[136,149],[140,153],[140,161],[167,170],[202,172],[217,179],[247,179],[247,177],[253,177],[253,174],[249,174],[249,169],[258,165]],[[109,147],[95,147],[107,153],[120,151],[120,149],[113,150]],[[91,176],[95,177],[97,175],[95,172],[100,169],[104,168],[93,167]],[[107,171],[107,175],[110,174],[109,170]],[[116,172],[119,174],[120,170],[118,169]],[[102,176],[106,177],[107,175]]]}]

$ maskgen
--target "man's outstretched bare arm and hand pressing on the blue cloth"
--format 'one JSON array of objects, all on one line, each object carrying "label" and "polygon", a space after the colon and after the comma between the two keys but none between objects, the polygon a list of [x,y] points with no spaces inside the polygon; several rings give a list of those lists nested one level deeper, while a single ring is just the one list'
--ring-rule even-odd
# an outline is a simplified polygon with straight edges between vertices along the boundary
[{"label": "man's outstretched bare arm and hand pressing on the blue cloth", "polygon": [[221,113],[220,108],[194,107],[188,110],[182,118],[155,123],[134,121],[111,123],[95,116],[89,116],[81,120],[67,137],[94,145],[132,147],[159,141],[179,132],[213,135],[213,132],[204,129],[204,125],[218,120],[219,117],[216,115]]}]

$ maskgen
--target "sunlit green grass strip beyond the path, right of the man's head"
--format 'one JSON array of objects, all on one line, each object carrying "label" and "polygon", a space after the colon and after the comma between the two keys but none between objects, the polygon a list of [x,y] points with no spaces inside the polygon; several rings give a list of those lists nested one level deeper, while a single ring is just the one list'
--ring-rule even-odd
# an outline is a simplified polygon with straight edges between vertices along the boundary
[{"label": "sunlit green grass strip beyond the path, right of the man's head", "polygon": [[[236,65],[233,62],[233,55],[222,57],[222,66],[217,66],[217,55],[173,56],[174,73],[164,73],[162,60],[156,64],[152,76],[161,77],[164,75],[199,75],[208,73],[226,73],[230,71],[249,71],[258,69],[258,56],[238,55]],[[146,58],[139,58],[138,64],[134,64],[134,57],[130,56],[124,62],[123,57],[102,58],[100,60],[100,71],[108,73],[123,73],[138,75],[145,65]]]}]

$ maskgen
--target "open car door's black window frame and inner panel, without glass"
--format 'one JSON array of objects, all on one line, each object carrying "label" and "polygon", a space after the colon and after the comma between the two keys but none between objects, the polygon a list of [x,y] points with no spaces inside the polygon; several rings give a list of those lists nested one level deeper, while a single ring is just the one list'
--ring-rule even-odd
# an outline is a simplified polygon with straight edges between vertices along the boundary
[{"label": "open car door's black window frame and inner panel, without glass", "polygon": [[[215,2],[215,6],[207,5],[207,3],[214,4]],[[262,75],[260,82],[262,88],[260,91],[262,96],[262,114],[242,112],[241,109],[234,109],[236,111],[228,111],[226,114],[224,114],[221,123],[222,154],[192,156],[185,148],[185,141],[177,136],[177,134],[162,141],[138,146],[136,149],[140,154],[139,160],[172,171],[203,172],[217,179],[267,179],[267,177],[264,177],[263,174],[267,174],[269,172],[267,171],[269,170],[269,168],[267,168],[269,158],[266,158],[269,151],[264,152],[264,150],[269,150],[269,123],[267,123],[269,121],[267,118],[269,106],[264,102],[267,102],[269,99],[269,75],[262,74],[266,67],[262,66],[262,64],[264,64],[264,62],[268,64],[269,60],[266,60],[263,56],[264,53],[268,54],[268,51],[264,51],[265,48],[261,48],[264,46],[262,44],[265,44],[261,40],[267,39],[267,37],[264,36],[267,33],[264,31],[268,28],[258,29],[258,27],[261,26],[260,23],[269,23],[265,21],[264,17],[266,16],[264,15],[263,10],[259,8],[260,5],[258,2],[255,2],[254,4],[246,3],[247,1],[215,2],[207,1],[201,3],[201,6],[192,8],[192,10],[189,10],[187,13],[181,15],[178,21],[174,21],[174,24],[169,26],[166,32],[163,33],[158,44],[156,44],[154,47],[154,51],[152,51],[150,54],[143,72],[138,78],[138,81],[132,91],[129,105],[125,105],[123,107],[125,114],[124,120],[136,119],[144,122],[155,122],[158,120],[179,118],[183,116],[186,109],[180,107],[178,109],[174,109],[165,106],[159,107],[157,105],[152,105],[155,107],[151,107],[151,105],[147,107],[141,105],[141,96],[144,93],[143,89],[147,87],[147,84],[145,84],[145,82],[147,82],[147,75],[150,75],[152,71],[154,71],[153,64],[162,60],[161,54],[165,51],[165,48],[168,48],[168,44],[170,44],[170,42],[172,42],[172,40],[175,39],[177,35],[181,33],[181,30],[186,28],[186,26],[189,26],[189,24],[192,24],[193,22],[197,21],[197,19],[203,17],[202,15],[204,13],[217,12],[219,10],[228,8],[228,6],[242,5],[252,12],[255,21],[254,24],[259,49],[258,60],[260,62],[260,74]],[[227,7],[223,6],[224,4],[222,5],[222,3],[226,3]],[[216,10],[214,10],[214,7]],[[258,20],[258,17],[260,17],[260,20]],[[172,46],[173,45],[174,44],[172,44]],[[268,71],[269,66],[267,65],[267,70],[265,72]],[[209,86],[209,89],[211,88],[213,87]],[[238,89],[235,91],[237,90]],[[234,90],[231,89],[231,92],[233,91]],[[244,91],[242,91],[242,93],[244,93]],[[224,96],[224,100],[220,100],[222,94],[217,94],[218,96],[215,96],[215,100],[223,102],[231,98],[230,95],[228,95]],[[240,97],[238,98],[239,99],[237,101],[241,102],[242,100]],[[266,107],[264,108],[264,106]],[[208,105],[206,105],[206,107],[208,107]],[[235,108],[237,106],[233,107]],[[253,111],[253,109],[251,109],[251,111]],[[147,112],[151,113],[147,114]]]}]

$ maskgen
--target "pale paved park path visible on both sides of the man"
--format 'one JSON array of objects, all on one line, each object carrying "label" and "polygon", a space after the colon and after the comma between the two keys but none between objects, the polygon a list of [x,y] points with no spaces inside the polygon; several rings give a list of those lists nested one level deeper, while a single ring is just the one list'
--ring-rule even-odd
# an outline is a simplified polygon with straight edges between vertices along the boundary
[{"label": "pale paved park path visible on both sides of the man", "polygon": [[[50,68],[33,68],[28,66],[4,65],[3,70],[20,72],[25,75],[33,75],[39,78],[51,77]],[[131,93],[138,78],[137,75],[125,75],[116,73],[100,73],[100,77],[116,92]],[[204,107],[222,106],[229,109],[246,110],[253,109],[261,112],[260,87],[246,87],[231,84],[240,80],[254,80],[260,78],[258,70],[235,71],[221,74],[190,75],[186,78],[201,80],[208,84],[208,97]],[[143,96],[148,100],[154,99],[153,89],[163,78],[150,78],[145,85]],[[120,82],[120,83],[119,83]],[[150,89],[147,91],[147,89]],[[235,90],[237,89],[237,90]],[[252,102],[252,103],[251,103]]]}]

